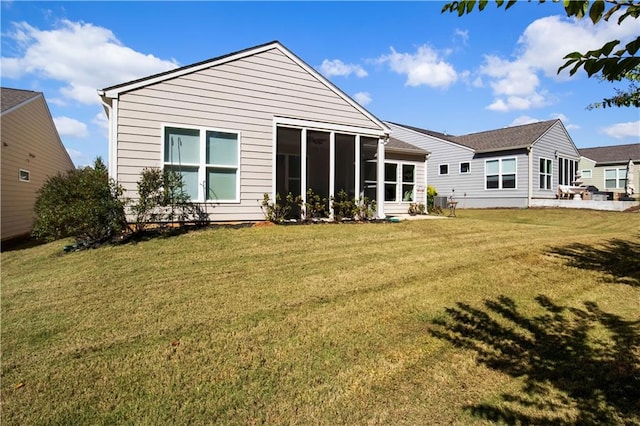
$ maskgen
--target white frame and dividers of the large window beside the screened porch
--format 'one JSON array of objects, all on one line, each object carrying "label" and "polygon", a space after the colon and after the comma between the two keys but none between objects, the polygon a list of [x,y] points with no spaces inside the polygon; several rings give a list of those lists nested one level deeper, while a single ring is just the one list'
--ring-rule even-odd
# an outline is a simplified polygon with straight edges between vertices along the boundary
[{"label": "white frame and dividers of the large window beside the screened porch", "polygon": [[[184,164],[184,166],[186,167],[197,167],[198,168],[198,196],[197,198],[192,198],[191,201],[193,202],[198,202],[198,203],[210,203],[210,204],[233,204],[233,203],[239,203],[240,202],[240,175],[241,175],[241,168],[240,168],[240,147],[242,145],[242,133],[239,130],[234,130],[234,129],[224,129],[224,128],[217,128],[217,127],[202,127],[202,126],[189,126],[189,125],[184,125],[184,124],[173,124],[173,123],[163,123],[161,128],[162,128],[162,134],[160,136],[160,139],[162,140],[162,149],[160,150],[160,155],[161,155],[161,164],[162,167],[164,169],[164,167],[166,166],[175,166],[176,163],[171,163],[171,162],[167,162],[164,160],[164,150],[165,150],[165,134],[166,134],[166,129],[170,127],[170,128],[176,128],[176,129],[184,129],[184,130],[197,130],[199,132],[199,138],[200,138],[200,153],[199,153],[199,162],[198,164],[192,164],[192,163],[186,163]],[[229,165],[219,165],[219,164],[208,164],[207,163],[207,145],[206,145],[206,138],[207,138],[207,132],[220,132],[220,133],[230,133],[230,134],[235,134],[237,136],[237,159],[238,159],[238,163],[236,164],[236,166],[229,166]],[[227,170],[235,170],[236,171],[236,187],[235,187],[235,194],[236,197],[233,200],[211,200],[211,199],[207,199],[207,196],[205,194],[205,189],[206,189],[206,185],[207,185],[207,168],[213,168],[213,169],[227,169]]]}]

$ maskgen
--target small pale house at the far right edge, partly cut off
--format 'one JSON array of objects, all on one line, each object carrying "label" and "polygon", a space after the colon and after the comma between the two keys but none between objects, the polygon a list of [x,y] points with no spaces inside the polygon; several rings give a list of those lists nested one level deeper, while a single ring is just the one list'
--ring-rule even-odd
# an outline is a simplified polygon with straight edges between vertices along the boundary
[{"label": "small pale house at the far right edge, partly cut off", "polygon": [[627,166],[633,161],[632,177],[635,198],[640,190],[640,143],[628,145],[581,148],[579,169],[584,185],[593,185],[602,192],[624,194],[627,185]]}]

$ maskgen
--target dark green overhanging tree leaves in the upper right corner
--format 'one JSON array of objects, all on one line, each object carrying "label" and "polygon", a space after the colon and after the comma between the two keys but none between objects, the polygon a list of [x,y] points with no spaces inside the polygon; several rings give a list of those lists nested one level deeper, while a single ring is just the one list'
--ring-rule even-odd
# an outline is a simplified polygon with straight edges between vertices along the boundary
[{"label": "dark green overhanging tree leaves in the upper right corner", "polygon": [[[538,0],[539,3],[545,3],[545,0]],[[560,0],[553,0],[554,3]],[[488,0],[466,0],[454,1],[447,3],[442,8],[442,13],[451,12],[462,16],[471,13],[476,4],[478,10],[482,11]],[[504,6],[505,10],[514,6],[515,0],[504,1],[496,0],[498,7]],[[582,19],[589,17],[593,24],[597,24],[600,20],[608,21],[614,14],[618,15],[618,24],[625,19],[631,17],[638,19],[640,16],[640,1],[633,0],[596,0],[596,1],[570,1],[563,0],[565,12],[568,17],[576,17]],[[565,68],[569,69],[569,74],[574,75],[578,70],[584,69],[589,77],[600,75],[601,78],[608,81],[618,81],[622,79],[628,72],[640,65],[640,57],[637,56],[640,49],[640,36],[622,46],[620,40],[611,40],[605,43],[601,48],[590,50],[588,52],[571,52],[563,59],[566,62],[558,69],[560,73]],[[613,102],[611,105],[616,105]],[[637,106],[637,104],[633,104]],[[626,106],[616,105],[616,106]]]}]

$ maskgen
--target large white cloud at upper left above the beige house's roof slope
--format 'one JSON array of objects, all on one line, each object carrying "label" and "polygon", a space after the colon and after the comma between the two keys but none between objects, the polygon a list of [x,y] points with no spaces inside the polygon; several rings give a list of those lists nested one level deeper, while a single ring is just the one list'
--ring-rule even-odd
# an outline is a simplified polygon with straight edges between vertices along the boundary
[{"label": "large white cloud at upper left above the beige house's roof slope", "polygon": [[3,37],[12,39],[20,52],[2,57],[5,78],[37,74],[61,81],[63,97],[85,104],[99,103],[98,89],[177,67],[173,60],[124,46],[107,28],[84,22],[62,20],[51,30],[14,22]]}]

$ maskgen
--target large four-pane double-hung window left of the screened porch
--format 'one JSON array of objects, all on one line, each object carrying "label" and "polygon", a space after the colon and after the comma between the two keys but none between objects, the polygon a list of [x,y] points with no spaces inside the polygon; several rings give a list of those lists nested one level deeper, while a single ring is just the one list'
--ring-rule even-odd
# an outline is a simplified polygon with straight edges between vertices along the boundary
[{"label": "large four-pane double-hung window left of the screened porch", "polygon": [[182,176],[193,201],[239,201],[240,134],[165,127],[164,168]]}]

